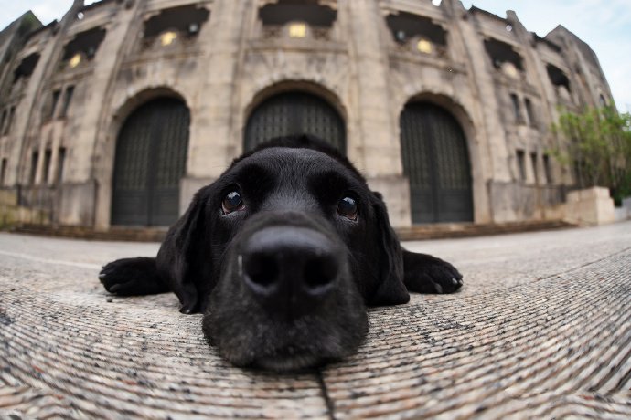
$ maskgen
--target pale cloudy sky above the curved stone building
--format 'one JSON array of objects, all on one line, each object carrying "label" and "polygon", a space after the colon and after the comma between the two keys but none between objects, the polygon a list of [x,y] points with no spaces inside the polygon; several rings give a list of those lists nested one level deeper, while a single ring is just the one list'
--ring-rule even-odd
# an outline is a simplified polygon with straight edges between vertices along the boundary
[{"label": "pale cloudy sky above the curved stone building", "polygon": [[[353,0],[349,0],[353,1]],[[419,0],[421,1],[421,0]],[[514,10],[526,29],[544,37],[565,26],[589,44],[600,60],[618,110],[631,112],[631,0],[462,0],[497,16]],[[93,1],[87,0],[86,4]],[[72,0],[0,0],[0,28],[27,10],[44,24],[59,19]]]}]

